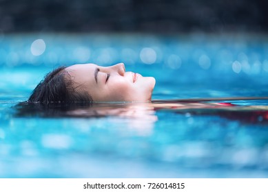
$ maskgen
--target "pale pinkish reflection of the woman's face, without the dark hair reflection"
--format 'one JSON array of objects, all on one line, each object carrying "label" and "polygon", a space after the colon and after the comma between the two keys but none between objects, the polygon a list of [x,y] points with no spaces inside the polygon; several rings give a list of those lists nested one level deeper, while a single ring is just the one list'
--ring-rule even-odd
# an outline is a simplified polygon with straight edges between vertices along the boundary
[{"label": "pale pinkish reflection of the woman's face, without the dark hair reflection", "polygon": [[158,120],[150,104],[96,104],[67,113],[70,117],[112,117],[108,121],[118,123],[120,128],[133,130],[141,136],[152,134],[154,123]]}]

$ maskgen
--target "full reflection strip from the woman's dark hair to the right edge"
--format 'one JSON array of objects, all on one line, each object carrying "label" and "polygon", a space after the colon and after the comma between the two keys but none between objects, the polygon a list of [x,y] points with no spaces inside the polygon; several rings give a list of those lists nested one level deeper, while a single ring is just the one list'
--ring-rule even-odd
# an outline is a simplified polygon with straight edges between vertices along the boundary
[{"label": "full reflection strip from the woman's dark hair to the right edge", "polygon": [[[161,113],[158,113],[161,112]],[[164,116],[163,113],[165,114]],[[178,115],[176,121],[187,121],[194,116],[220,117],[234,119],[241,123],[268,123],[267,106],[239,106],[230,103],[212,103],[202,101],[152,101],[139,103],[97,103],[97,104],[18,104],[15,117],[72,117],[107,118],[115,121],[118,128],[134,129],[139,134],[152,133],[158,119],[169,121],[169,115]],[[162,114],[159,116],[159,114]],[[173,116],[172,115],[172,116]],[[167,117],[167,119],[163,119]],[[174,116],[173,116],[174,117]],[[162,119],[161,119],[162,118]],[[194,123],[194,119],[191,119]],[[114,123],[113,123],[114,124]]]}]

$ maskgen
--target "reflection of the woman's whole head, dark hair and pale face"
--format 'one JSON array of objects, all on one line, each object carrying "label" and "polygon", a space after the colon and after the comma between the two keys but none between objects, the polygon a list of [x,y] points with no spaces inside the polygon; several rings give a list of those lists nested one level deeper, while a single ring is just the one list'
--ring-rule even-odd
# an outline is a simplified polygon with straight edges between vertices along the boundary
[{"label": "reflection of the woman's whole head, dark hair and pale face", "polygon": [[[158,120],[154,107],[150,103],[74,103],[41,104],[22,102],[15,106],[14,117],[43,117],[95,119],[105,118],[118,127],[133,130],[136,134],[147,136],[152,133],[154,123]],[[107,119],[106,119],[107,118]]]}]

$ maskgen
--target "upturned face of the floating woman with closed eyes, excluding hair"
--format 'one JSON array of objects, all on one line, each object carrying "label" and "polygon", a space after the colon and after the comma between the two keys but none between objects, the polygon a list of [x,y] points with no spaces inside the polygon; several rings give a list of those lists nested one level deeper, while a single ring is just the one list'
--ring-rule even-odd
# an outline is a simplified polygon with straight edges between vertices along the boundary
[{"label": "upturned face of the floating woman with closed eyes, excluding hair", "polygon": [[86,91],[93,101],[149,101],[156,83],[154,77],[125,72],[123,63],[111,67],[74,64],[65,70],[77,91]]}]

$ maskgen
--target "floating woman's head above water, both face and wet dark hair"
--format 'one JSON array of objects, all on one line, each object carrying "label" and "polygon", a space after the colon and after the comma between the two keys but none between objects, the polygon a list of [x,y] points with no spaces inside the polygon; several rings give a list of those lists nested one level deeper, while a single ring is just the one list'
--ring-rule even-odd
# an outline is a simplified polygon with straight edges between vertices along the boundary
[{"label": "floating woman's head above water, both face and wet dark hair", "polygon": [[123,63],[74,64],[48,73],[28,102],[150,101],[155,83],[154,77],[125,72]]}]

